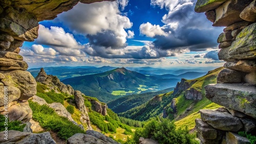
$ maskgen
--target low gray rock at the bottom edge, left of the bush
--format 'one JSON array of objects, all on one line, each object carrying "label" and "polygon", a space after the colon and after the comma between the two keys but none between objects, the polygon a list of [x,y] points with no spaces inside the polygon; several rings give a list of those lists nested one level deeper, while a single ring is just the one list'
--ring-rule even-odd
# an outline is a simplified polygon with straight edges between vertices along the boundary
[{"label": "low gray rock at the bottom edge, left of the bush", "polygon": [[67,144],[76,143],[102,143],[102,144],[119,144],[115,140],[105,136],[104,134],[96,131],[87,131],[86,134],[76,133],[67,140]]}]

